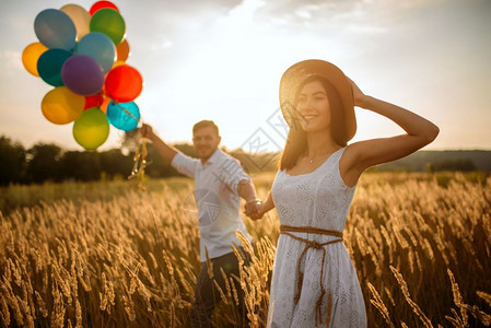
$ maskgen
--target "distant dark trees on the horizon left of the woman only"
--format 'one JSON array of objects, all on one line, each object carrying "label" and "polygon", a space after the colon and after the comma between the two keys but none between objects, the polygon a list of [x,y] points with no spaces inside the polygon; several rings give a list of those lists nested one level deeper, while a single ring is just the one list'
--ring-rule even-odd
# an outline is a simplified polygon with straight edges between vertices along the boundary
[{"label": "distant dark trees on the horizon left of the woman only", "polygon": [[[107,151],[68,151],[52,143],[37,143],[25,149],[21,143],[0,136],[0,186],[9,184],[60,183],[65,180],[91,181],[126,178],[133,167],[138,142],[122,142],[121,149]],[[183,153],[197,157],[191,144],[174,144]],[[178,172],[160,156],[157,150],[147,143],[145,175],[150,177],[178,176]],[[225,149],[223,149],[226,151]],[[248,154],[242,150],[230,152],[243,163],[246,172],[272,171],[277,154]]]}]

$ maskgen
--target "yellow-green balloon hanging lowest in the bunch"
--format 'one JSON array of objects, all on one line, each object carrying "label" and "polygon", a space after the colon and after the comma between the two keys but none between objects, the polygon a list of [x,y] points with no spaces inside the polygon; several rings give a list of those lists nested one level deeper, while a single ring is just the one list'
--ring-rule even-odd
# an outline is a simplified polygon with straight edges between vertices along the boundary
[{"label": "yellow-green balloon hanging lowest in the bunch", "polygon": [[83,112],[73,122],[73,138],[86,150],[97,149],[109,136],[107,117],[97,107]]}]

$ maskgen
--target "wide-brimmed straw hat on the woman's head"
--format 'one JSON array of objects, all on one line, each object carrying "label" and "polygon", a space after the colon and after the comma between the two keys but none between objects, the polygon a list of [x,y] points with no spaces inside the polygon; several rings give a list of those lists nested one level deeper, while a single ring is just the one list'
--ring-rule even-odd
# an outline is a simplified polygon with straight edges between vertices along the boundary
[{"label": "wide-brimmed straw hat on the woman's head", "polygon": [[347,141],[356,132],[353,91],[344,73],[335,65],[318,59],[300,61],[290,67],[280,81],[280,106],[288,125],[294,125],[294,99],[299,86],[311,77],[320,77],[329,81],[338,91],[344,110],[344,131]]}]

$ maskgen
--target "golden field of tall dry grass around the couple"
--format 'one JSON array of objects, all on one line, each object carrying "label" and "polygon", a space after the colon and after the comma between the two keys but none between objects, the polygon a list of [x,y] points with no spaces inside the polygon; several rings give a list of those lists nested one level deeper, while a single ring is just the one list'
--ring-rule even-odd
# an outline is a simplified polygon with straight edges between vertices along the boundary
[{"label": "golden field of tall dry grass around the couple", "polygon": [[[253,176],[259,196],[272,174]],[[2,327],[187,327],[199,269],[192,181],[1,189]],[[191,211],[192,212],[192,211]],[[370,327],[491,325],[491,177],[365,174],[344,243]],[[276,211],[244,216],[254,247],[241,270],[252,327],[264,327],[279,235]],[[229,278],[234,279],[234,278]],[[236,291],[213,315],[234,327]]]}]

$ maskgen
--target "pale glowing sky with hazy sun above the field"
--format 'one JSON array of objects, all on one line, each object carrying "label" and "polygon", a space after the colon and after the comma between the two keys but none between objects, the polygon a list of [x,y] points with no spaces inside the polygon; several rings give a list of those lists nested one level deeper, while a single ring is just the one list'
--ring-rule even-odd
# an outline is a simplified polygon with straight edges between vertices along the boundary
[{"label": "pale glowing sky with hazy sun above the field", "polygon": [[[0,134],[25,147],[78,149],[71,124],[40,112],[52,87],[22,66],[37,42],[44,9],[95,1],[2,0]],[[428,150],[491,150],[491,1],[192,0],[114,1],[127,25],[128,65],[143,77],[136,103],[169,142],[190,141],[192,125],[213,119],[222,144],[279,150],[278,85],[304,59],[336,63],[360,89],[435,122]],[[387,119],[356,109],[353,141],[401,133]],[[118,147],[112,127],[102,149]],[[268,143],[268,144],[266,144]]]}]

